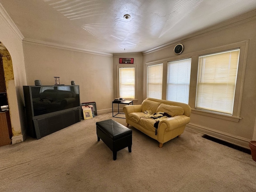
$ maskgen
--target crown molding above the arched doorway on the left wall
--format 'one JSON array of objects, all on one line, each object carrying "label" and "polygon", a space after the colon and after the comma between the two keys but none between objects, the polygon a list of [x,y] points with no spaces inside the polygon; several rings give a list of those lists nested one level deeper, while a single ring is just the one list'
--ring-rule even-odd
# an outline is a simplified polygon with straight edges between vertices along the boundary
[{"label": "crown molding above the arched doorway on the left wall", "polygon": [[9,26],[9,28],[14,32],[14,34],[20,39],[23,40],[24,36],[16,26],[16,24],[13,22],[11,17],[8,15],[2,4],[0,4],[0,17],[4,22]]}]

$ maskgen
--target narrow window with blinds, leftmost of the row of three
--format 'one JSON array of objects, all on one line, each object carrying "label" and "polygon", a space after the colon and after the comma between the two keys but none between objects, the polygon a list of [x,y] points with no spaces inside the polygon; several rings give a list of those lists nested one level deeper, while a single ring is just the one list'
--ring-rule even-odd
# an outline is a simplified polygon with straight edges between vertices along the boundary
[{"label": "narrow window with blinds, leftmost of the row of three", "polygon": [[147,97],[162,99],[163,64],[148,66]]}]

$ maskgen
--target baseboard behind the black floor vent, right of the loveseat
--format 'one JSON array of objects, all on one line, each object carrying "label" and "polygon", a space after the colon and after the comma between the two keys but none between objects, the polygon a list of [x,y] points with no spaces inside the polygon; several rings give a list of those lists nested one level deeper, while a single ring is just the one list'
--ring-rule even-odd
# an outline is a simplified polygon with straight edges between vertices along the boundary
[{"label": "baseboard behind the black floor vent, right of the loveseat", "polygon": [[210,128],[207,128],[207,127],[204,127],[204,126],[199,126],[199,125],[196,125],[196,124],[192,124],[192,123],[187,124],[186,128],[190,128],[192,130],[196,130],[198,132],[207,134],[209,136],[212,136],[214,138],[229,142],[231,144],[235,144],[235,145],[238,145],[240,147],[250,149],[250,147],[249,147],[250,140],[242,138],[242,137],[233,136],[233,135],[230,135],[230,134],[226,134],[224,132],[216,131],[216,130],[213,130],[213,129],[210,129]]}]

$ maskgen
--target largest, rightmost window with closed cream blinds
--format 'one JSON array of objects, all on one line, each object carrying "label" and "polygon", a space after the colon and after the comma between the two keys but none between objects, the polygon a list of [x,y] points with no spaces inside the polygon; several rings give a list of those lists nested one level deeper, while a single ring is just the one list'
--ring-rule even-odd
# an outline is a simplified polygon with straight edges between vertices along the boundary
[{"label": "largest, rightmost window with closed cream blinds", "polygon": [[233,113],[240,49],[200,56],[196,108]]}]

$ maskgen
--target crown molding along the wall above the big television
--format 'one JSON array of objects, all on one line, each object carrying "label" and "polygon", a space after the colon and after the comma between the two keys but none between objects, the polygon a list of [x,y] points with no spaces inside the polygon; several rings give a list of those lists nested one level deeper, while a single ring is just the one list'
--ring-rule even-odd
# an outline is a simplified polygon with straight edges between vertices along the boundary
[{"label": "crown molding along the wall above the big television", "polygon": [[40,45],[40,46],[47,46],[47,47],[52,47],[52,48],[70,50],[70,51],[83,52],[83,53],[88,53],[88,54],[96,54],[96,55],[101,55],[101,56],[111,56],[111,57],[113,56],[113,54],[110,54],[110,53],[92,51],[92,50],[76,48],[76,47],[72,47],[72,46],[65,46],[65,45],[62,45],[62,44],[46,42],[46,41],[41,41],[41,40],[36,40],[36,39],[30,39],[30,38],[24,38],[22,40],[22,42],[29,43],[29,44]]}]

